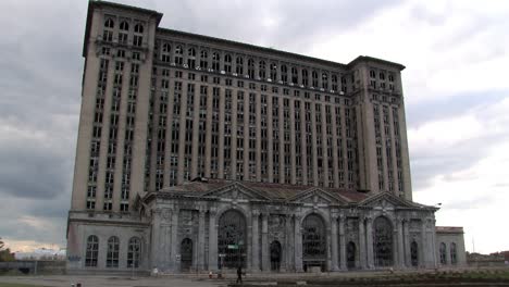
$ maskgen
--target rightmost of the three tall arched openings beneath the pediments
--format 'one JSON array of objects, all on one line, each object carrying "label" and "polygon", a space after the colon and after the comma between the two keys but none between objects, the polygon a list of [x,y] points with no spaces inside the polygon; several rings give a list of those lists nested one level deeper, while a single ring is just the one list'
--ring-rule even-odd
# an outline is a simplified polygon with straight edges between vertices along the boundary
[{"label": "rightmost of the three tall arched openings beneath the pediments", "polygon": [[380,216],[374,221],[374,261],[375,266],[386,267],[394,265],[393,250],[393,225],[384,217]]}]

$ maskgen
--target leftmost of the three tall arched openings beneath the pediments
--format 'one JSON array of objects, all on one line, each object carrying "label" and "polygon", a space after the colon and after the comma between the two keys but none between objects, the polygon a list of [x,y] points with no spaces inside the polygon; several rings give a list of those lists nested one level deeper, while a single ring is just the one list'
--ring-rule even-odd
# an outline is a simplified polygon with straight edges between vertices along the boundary
[{"label": "leftmost of the three tall arched openings beneath the pediments", "polygon": [[218,262],[221,269],[246,267],[246,220],[236,210],[228,210],[219,220]]}]

